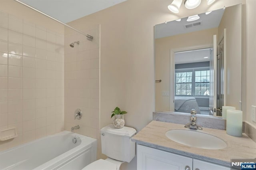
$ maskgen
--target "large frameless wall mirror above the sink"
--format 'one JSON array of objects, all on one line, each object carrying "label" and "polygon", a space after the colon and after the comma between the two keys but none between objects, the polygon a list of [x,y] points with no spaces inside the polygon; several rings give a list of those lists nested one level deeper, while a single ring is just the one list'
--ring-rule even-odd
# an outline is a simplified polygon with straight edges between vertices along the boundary
[{"label": "large frameless wall mirror above the sink", "polygon": [[155,26],[156,111],[222,116],[242,105],[242,6]]}]

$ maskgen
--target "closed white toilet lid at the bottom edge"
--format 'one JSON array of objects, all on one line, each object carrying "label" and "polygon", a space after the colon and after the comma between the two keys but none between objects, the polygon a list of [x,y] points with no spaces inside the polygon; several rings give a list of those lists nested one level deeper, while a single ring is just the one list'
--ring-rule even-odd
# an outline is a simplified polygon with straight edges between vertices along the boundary
[{"label": "closed white toilet lid at the bottom edge", "polygon": [[99,159],[90,163],[82,170],[116,170],[116,164],[108,162],[104,159]]}]

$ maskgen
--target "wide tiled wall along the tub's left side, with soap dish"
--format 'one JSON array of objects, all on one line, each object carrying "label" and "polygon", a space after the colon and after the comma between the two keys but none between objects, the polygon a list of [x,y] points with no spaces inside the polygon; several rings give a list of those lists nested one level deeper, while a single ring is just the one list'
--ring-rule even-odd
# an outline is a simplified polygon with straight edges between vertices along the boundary
[{"label": "wide tiled wall along the tub's left side, with soap dish", "polygon": [[0,150],[64,130],[64,35],[0,12]]}]

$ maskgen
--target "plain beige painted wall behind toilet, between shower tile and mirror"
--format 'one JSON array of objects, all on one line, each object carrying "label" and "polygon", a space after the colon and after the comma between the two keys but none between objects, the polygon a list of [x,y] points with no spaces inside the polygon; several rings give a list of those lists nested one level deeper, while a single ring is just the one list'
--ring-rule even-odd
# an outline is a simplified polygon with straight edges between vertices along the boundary
[{"label": "plain beige painted wall behind toilet, between shower tile and mirror", "polygon": [[[185,16],[232,6],[244,0],[206,1],[193,10],[184,6],[174,15],[170,0],[127,0],[69,24],[79,30],[101,25],[100,127],[110,123],[116,107],[128,112],[126,126],[141,130],[152,120],[154,103],[154,25]],[[127,169],[136,169],[134,159]],[[126,164],[127,165],[127,164]],[[124,165],[124,166],[126,166]],[[123,167],[124,168],[124,167]]]}]

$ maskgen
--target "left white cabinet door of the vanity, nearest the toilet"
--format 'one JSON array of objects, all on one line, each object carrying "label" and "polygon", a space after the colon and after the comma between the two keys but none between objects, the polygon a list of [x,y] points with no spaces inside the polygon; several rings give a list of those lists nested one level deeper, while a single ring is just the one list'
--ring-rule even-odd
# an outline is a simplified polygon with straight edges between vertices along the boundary
[{"label": "left white cabinet door of the vanity, nearest the toilet", "polygon": [[192,170],[193,159],[138,144],[137,170]]}]

